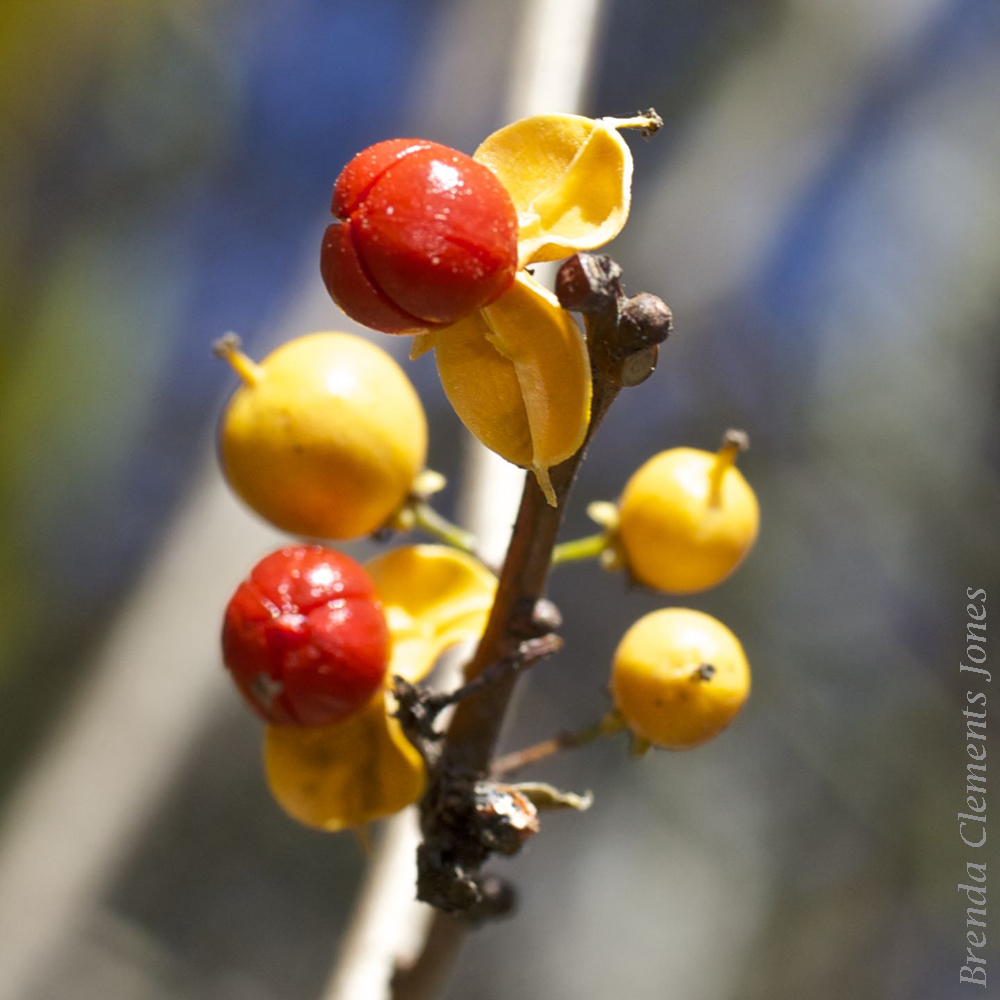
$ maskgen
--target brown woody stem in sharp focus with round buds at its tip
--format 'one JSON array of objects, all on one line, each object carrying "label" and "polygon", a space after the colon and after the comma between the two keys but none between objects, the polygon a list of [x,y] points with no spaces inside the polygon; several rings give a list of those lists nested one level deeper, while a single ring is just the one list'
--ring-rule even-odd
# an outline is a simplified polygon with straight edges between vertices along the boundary
[{"label": "brown woody stem in sharp focus with round buds at its tip", "polygon": [[[427,947],[393,984],[395,1000],[432,995],[464,928],[499,916],[512,905],[509,887],[480,874],[492,853],[478,836],[474,789],[489,780],[491,760],[520,671],[506,671],[492,683],[477,677],[509,660],[540,630],[538,612],[567,499],[586,447],[622,388],[644,381],[656,364],[658,345],[671,329],[670,310],[654,295],[626,299],[621,269],[606,255],[577,254],[559,270],[559,301],[583,314],[593,377],[590,425],[575,455],[551,470],[558,501],[550,506],[533,476],[525,479],[514,533],[500,572],[486,630],[465,669],[465,697],[458,702],[421,802],[423,844],[418,853],[418,898],[439,910]],[[462,912],[459,921],[448,914]]]}]

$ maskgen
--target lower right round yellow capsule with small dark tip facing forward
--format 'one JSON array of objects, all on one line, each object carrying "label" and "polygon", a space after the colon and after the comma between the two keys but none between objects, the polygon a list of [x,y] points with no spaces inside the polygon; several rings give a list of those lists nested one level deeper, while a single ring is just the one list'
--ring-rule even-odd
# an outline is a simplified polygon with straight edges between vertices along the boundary
[{"label": "lower right round yellow capsule with small dark tip facing forward", "polygon": [[739,640],[700,611],[665,608],[640,618],[615,651],[615,705],[641,740],[689,750],[718,736],[750,694]]}]

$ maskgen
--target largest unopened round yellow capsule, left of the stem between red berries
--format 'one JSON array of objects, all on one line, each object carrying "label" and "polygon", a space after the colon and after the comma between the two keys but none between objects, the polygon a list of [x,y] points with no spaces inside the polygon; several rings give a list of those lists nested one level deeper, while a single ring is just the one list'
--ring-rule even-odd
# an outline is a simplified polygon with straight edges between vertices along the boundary
[{"label": "largest unopened round yellow capsule, left of the stem between red berries", "polygon": [[357,538],[405,501],[427,455],[427,421],[403,370],[347,333],[313,333],[259,364],[223,343],[243,378],[222,418],[230,485],[285,531]]}]

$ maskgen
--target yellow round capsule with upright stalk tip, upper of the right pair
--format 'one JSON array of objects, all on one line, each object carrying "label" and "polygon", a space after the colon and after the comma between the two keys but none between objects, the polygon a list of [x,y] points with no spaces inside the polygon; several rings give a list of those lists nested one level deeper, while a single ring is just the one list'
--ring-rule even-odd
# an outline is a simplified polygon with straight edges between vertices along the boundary
[{"label": "yellow round capsule with upright stalk tip, upper of the right pair", "polygon": [[660,452],[628,481],[618,540],[632,575],[669,594],[721,583],[753,547],[757,498],[733,464],[745,437],[731,432],[716,454]]}]

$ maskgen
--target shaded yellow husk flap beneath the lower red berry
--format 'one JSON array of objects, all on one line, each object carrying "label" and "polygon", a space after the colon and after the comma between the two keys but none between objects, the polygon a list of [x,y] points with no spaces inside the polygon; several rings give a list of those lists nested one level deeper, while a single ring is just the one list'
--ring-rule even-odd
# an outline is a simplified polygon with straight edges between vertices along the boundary
[{"label": "shaded yellow husk flap beneath the lower red berry", "polygon": [[329,726],[267,727],[267,783],[289,816],[334,832],[420,798],[424,763],[387,714],[386,698],[380,691],[361,712]]}]

